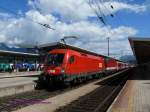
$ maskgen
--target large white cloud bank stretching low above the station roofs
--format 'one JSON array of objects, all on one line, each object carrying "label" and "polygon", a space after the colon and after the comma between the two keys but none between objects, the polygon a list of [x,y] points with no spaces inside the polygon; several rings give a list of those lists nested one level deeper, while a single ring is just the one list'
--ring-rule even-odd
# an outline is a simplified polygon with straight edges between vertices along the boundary
[{"label": "large white cloud bank stretching low above the station roofs", "polygon": [[[27,19],[26,19],[27,18]],[[7,43],[47,43],[60,41],[66,35],[79,37],[78,40],[67,41],[72,45],[82,47],[99,53],[105,53],[107,49],[107,37],[111,37],[111,51],[118,52],[121,49],[129,49],[127,37],[135,35],[137,30],[132,27],[120,26],[111,27],[100,26],[89,21],[79,21],[67,24],[58,21],[57,18],[48,14],[41,15],[39,12],[31,10],[27,12],[26,18],[0,21],[0,40]],[[30,21],[51,23],[56,30],[49,30],[43,26]],[[111,31],[110,31],[111,30]],[[125,41],[126,40],[126,41]],[[116,49],[118,51],[116,51]]]}]

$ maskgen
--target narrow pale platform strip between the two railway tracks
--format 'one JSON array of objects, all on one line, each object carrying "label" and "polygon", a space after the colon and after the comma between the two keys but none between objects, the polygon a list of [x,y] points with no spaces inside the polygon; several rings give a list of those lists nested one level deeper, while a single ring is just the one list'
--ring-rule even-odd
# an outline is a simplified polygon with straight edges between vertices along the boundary
[{"label": "narrow pale platform strip between the two railway tracks", "polygon": [[21,109],[18,109],[14,112],[54,112],[57,109],[59,109],[60,107],[69,105],[71,102],[79,99],[82,96],[85,96],[93,91],[95,91],[96,89],[98,89],[101,85],[99,85],[98,83],[103,82],[105,80],[108,79],[112,79],[114,77],[118,77],[118,75],[120,73],[126,72],[126,70],[124,71],[120,71],[119,73],[115,73],[113,75],[110,75],[108,77],[96,80],[92,83],[86,84],[80,88],[77,89],[73,89],[71,91],[56,95],[54,97],[50,97],[48,99],[43,100],[43,102],[46,103],[36,103]]}]

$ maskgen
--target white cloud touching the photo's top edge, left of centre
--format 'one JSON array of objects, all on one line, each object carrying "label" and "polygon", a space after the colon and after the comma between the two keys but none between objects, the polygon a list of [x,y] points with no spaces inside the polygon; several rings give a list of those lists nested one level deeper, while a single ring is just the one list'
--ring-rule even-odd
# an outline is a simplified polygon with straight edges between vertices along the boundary
[{"label": "white cloud touching the photo's top edge, left of centre", "polygon": [[36,0],[30,1],[29,4],[43,13],[60,14],[63,20],[86,19],[89,14],[92,14],[86,0]]}]

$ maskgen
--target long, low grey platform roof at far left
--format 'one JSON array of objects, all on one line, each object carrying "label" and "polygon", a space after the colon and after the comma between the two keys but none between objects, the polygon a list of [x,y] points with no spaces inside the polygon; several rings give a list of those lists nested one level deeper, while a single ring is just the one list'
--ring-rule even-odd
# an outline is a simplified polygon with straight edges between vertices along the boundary
[{"label": "long, low grey platform roof at far left", "polygon": [[39,54],[0,50],[0,56],[28,56],[28,57],[38,57]]}]

